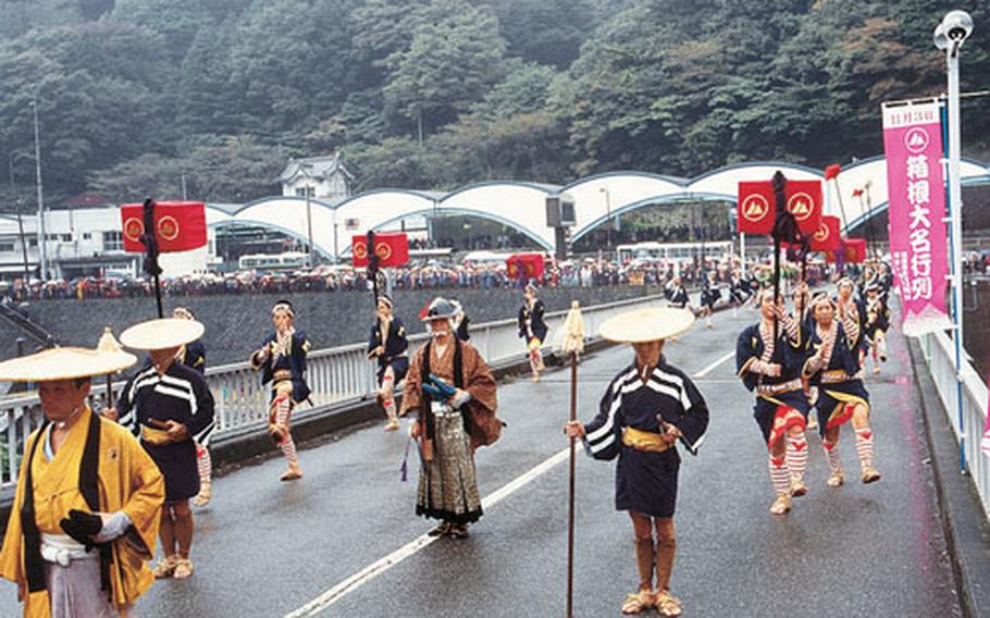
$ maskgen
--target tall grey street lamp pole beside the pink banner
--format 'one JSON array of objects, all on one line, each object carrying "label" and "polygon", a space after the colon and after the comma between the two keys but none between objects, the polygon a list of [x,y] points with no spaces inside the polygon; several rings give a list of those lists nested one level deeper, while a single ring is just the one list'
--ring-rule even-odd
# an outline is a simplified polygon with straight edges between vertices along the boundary
[{"label": "tall grey street lamp pole beside the pink banner", "polygon": [[955,329],[956,400],[960,422],[960,467],[966,470],[966,450],[963,441],[963,187],[960,182],[962,150],[960,132],[960,48],[973,34],[973,17],[965,11],[951,11],[932,36],[935,46],[945,52],[949,73],[949,219],[952,222],[952,313]]}]

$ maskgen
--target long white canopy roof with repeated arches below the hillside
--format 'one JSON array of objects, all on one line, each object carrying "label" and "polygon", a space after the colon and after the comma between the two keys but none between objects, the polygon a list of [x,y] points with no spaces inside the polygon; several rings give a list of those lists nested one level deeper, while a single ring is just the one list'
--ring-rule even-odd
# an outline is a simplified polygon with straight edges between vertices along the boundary
[{"label": "long white canopy roof with repeated arches below the hillside", "polygon": [[[331,203],[311,198],[313,244],[326,256],[346,257],[350,238],[368,230],[382,230],[404,219],[433,214],[466,214],[496,221],[525,234],[547,250],[554,249],[554,230],[546,226],[546,198],[566,194],[574,201],[578,239],[604,224],[611,215],[675,200],[720,200],[735,203],[740,181],[770,180],[778,170],[789,180],[825,180],[819,170],[794,163],[760,161],[740,163],[707,172],[694,178],[678,178],[645,172],[610,172],[581,178],[565,187],[515,181],[493,181],[468,185],[442,194],[409,189],[375,189]],[[990,166],[973,160],[962,164],[964,182],[990,175]],[[855,227],[867,218],[867,202],[853,193],[869,186],[873,214],[887,209],[887,161],[876,157],[843,168],[838,178],[841,203],[836,199],[836,183],[825,183],[826,214],[843,219]],[[301,197],[273,197],[243,207],[210,206],[210,227],[234,222],[267,225],[297,238],[307,238],[307,200]],[[842,217],[844,214],[844,218]],[[348,223],[350,227],[348,227]]]}]

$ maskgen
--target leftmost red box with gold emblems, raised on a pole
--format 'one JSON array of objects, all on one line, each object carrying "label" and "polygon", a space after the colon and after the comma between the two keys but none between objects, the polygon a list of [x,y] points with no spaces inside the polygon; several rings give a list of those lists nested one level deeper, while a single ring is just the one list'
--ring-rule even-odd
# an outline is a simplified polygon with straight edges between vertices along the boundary
[{"label": "leftmost red box with gold emblems, raised on a pole", "polygon": [[[124,250],[144,252],[145,233],[144,206],[125,203],[121,206],[121,228]],[[154,236],[160,254],[173,254],[198,249],[207,244],[207,208],[201,201],[157,201],[154,202]]]}]

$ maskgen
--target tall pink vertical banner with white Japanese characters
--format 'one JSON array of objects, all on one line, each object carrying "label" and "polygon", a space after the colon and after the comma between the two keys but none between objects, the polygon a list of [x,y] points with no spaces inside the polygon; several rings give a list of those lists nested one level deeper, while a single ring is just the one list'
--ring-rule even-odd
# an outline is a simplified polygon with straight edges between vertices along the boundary
[{"label": "tall pink vertical banner with white Japanese characters", "polygon": [[904,334],[952,325],[946,307],[949,247],[939,103],[883,106],[890,256]]}]

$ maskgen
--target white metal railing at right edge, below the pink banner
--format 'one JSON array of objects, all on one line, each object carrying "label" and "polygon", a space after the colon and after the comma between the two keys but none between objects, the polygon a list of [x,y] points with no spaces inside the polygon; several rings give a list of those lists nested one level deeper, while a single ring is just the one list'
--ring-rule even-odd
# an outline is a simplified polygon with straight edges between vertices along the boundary
[{"label": "white metal railing at right edge, below the pink banner", "polygon": [[[925,335],[920,338],[920,344],[928,371],[949,417],[949,424],[952,425],[956,440],[960,435],[963,436],[966,470],[979,493],[983,511],[990,517],[990,457],[980,453],[980,438],[983,435],[983,424],[987,422],[987,384],[968,361],[963,362],[961,382],[956,381],[955,346],[945,333]],[[958,407],[960,393],[962,419]]]}]

